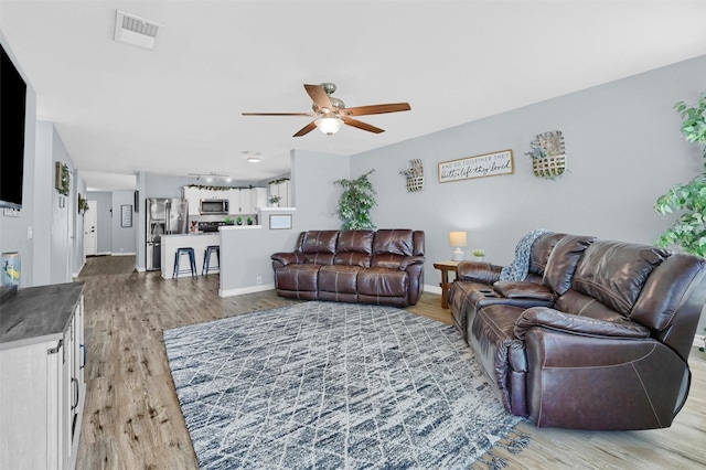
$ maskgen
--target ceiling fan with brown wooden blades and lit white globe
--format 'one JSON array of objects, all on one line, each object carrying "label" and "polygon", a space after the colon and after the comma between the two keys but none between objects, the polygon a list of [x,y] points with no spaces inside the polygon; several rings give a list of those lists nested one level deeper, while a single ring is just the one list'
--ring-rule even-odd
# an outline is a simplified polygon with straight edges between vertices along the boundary
[{"label": "ceiling fan with brown wooden blades and lit white globe", "polygon": [[408,111],[409,103],[392,103],[387,105],[368,105],[346,108],[343,100],[331,96],[335,92],[335,84],[304,85],[304,89],[313,100],[313,113],[243,113],[243,116],[310,116],[314,120],[301,128],[293,137],[301,137],[319,128],[323,133],[333,135],[345,124],[367,130],[368,132],[384,132],[370,124],[360,121],[351,116],[381,115],[385,113]]}]

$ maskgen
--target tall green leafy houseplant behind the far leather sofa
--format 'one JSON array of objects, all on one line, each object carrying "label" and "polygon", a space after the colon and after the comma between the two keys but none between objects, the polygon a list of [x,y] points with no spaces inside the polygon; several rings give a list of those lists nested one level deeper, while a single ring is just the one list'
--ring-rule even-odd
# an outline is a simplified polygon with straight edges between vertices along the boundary
[{"label": "tall green leafy houseplant behind the far leather sofa", "polygon": [[343,188],[343,194],[339,200],[339,207],[335,214],[341,218],[341,228],[344,231],[355,231],[364,228],[375,228],[371,221],[371,209],[377,205],[375,201],[375,189],[368,180],[374,169],[355,180],[338,180],[334,184]]}]

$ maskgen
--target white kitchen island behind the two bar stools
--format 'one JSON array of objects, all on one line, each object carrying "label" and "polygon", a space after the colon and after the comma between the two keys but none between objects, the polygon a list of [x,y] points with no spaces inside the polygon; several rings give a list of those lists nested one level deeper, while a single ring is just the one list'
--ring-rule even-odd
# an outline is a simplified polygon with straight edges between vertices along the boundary
[{"label": "white kitchen island behind the two bar stools", "polygon": [[[164,279],[172,278],[174,273],[174,255],[178,248],[194,248],[194,254],[196,255],[196,276],[201,276],[206,247],[211,245],[221,246],[221,234],[218,232],[162,235],[162,277]],[[208,274],[220,273],[220,269],[213,270],[213,267],[217,265],[218,261],[216,257],[212,255],[212,269]],[[182,270],[179,277],[191,277],[188,256],[182,255],[179,267]],[[183,273],[184,270],[186,270],[186,273]]]}]

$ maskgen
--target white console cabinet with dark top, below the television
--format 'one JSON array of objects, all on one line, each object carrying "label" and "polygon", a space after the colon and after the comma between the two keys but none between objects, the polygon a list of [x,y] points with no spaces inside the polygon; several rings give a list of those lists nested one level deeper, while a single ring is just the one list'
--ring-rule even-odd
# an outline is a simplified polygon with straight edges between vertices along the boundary
[{"label": "white console cabinet with dark top, below the television", "polygon": [[86,399],[83,282],[21,289],[0,316],[0,468],[74,469]]}]

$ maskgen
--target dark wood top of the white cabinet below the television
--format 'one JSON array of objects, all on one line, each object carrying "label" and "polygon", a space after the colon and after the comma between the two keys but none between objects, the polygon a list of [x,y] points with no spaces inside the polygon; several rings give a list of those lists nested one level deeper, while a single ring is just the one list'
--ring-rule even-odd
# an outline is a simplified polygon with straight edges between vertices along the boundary
[{"label": "dark wood top of the white cabinet below the television", "polygon": [[0,350],[60,340],[83,291],[84,282],[19,289],[0,307]]}]

